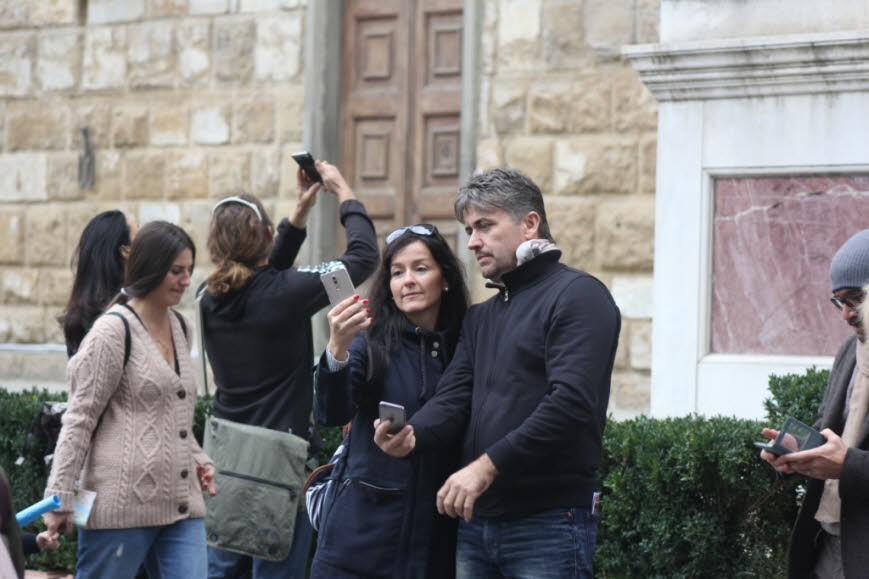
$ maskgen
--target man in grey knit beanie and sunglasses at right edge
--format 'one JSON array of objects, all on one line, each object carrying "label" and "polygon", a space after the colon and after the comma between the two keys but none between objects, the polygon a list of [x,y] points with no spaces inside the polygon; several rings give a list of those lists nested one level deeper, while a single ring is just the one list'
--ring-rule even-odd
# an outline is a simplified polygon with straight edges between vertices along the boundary
[{"label": "man in grey knit beanie and sunglasses at right edge", "polygon": [[[833,305],[854,330],[836,354],[815,428],[826,444],[777,457],[761,451],[761,458],[783,473],[809,477],[806,496],[791,534],[788,577],[852,578],[869,574],[869,414],[866,378],[859,378],[858,350],[866,347],[865,328],[858,307],[869,284],[869,229],[839,248],[830,263]],[[860,342],[858,346],[858,341]],[[869,374],[863,369],[863,374]],[[851,424],[853,422],[853,424]],[[849,428],[849,424],[851,424]],[[850,434],[846,434],[850,433]],[[765,428],[770,439],[778,431]],[[843,440],[843,438],[845,440]]]}]

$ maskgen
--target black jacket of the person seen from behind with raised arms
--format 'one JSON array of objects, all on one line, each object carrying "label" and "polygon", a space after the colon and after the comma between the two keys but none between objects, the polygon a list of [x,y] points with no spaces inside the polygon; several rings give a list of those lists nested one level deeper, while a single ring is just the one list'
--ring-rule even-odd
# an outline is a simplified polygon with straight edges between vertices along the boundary
[{"label": "black jacket of the person seen from behind with raised arms", "polygon": [[269,264],[244,287],[202,297],[205,348],[214,370],[214,415],[308,437],[314,360],[311,316],[329,304],[320,275],[346,267],[360,284],[377,266],[374,226],[355,200],[341,204],[347,250],[337,261],[291,267],[305,230],[278,226]]}]

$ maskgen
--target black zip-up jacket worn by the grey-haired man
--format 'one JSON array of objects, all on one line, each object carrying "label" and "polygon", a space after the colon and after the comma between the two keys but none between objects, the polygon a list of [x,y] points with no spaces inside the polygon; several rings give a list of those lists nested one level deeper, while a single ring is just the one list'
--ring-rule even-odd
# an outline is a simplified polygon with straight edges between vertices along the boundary
[{"label": "black zip-up jacket worn by the grey-haired man", "polygon": [[621,318],[606,287],[548,251],[473,306],[437,393],[410,423],[416,452],[461,436],[462,462],[498,469],[474,514],[509,520],[588,507]]}]

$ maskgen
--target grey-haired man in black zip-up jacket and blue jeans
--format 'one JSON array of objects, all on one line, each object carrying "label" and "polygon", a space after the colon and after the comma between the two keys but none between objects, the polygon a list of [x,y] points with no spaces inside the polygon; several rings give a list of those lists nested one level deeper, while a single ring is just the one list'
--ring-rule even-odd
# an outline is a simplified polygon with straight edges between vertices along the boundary
[{"label": "grey-haired man in black zip-up jacket and blue jeans", "polygon": [[375,441],[406,456],[463,436],[466,466],[437,494],[438,510],[463,519],[459,577],[591,577],[618,308],[559,263],[540,189],[518,171],[474,177],[455,214],[499,293],[468,311],[434,398]]}]

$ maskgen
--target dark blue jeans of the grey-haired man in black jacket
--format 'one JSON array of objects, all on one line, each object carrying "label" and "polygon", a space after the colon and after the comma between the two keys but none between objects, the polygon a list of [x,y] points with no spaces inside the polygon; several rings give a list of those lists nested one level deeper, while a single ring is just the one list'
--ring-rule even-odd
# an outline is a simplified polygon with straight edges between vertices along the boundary
[{"label": "dark blue jeans of the grey-haired man in black jacket", "polygon": [[511,521],[459,521],[456,578],[591,579],[597,518],[573,508]]}]

